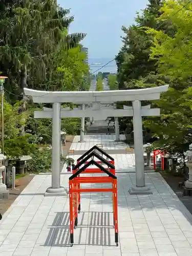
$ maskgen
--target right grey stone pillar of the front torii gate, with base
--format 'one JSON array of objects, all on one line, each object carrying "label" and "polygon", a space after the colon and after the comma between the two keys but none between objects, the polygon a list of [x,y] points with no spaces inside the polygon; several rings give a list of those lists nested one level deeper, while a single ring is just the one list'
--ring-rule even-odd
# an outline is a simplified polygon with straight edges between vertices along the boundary
[{"label": "right grey stone pillar of the front torii gate, with base", "polygon": [[133,101],[133,128],[134,128],[134,151],[136,187],[131,187],[129,192],[133,195],[153,194],[149,187],[145,186],[144,158],[143,158],[143,131],[141,101]]}]

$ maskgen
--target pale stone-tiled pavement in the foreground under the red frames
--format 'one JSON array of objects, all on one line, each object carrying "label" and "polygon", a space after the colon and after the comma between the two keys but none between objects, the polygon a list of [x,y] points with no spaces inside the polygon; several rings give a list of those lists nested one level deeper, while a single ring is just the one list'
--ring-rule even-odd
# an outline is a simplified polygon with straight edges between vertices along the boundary
[{"label": "pale stone-tiled pavement in the foreground under the red frames", "polygon": [[[62,185],[68,186],[68,178],[61,175]],[[44,197],[51,175],[36,175],[0,222],[0,255],[191,256],[192,216],[161,175],[145,174],[154,194],[144,196],[129,194],[135,174],[117,178],[119,247],[111,195],[82,194],[75,243],[69,247],[69,199]]]}]

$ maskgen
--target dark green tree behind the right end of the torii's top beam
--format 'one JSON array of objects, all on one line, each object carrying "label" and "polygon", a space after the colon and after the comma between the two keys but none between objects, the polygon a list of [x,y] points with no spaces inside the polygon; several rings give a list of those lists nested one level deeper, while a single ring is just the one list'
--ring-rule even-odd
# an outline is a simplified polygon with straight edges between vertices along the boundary
[{"label": "dark green tree behind the right end of the torii's top beam", "polygon": [[[134,25],[129,28],[122,27],[125,36],[122,37],[123,46],[116,57],[119,89],[148,87],[148,84],[145,86],[150,83],[147,76],[156,73],[156,61],[150,59],[153,35],[146,35],[145,27],[155,29],[159,26],[157,17],[160,15],[161,6],[161,0],[150,0],[142,13],[137,13]],[[143,78],[147,81],[143,82]]]}]

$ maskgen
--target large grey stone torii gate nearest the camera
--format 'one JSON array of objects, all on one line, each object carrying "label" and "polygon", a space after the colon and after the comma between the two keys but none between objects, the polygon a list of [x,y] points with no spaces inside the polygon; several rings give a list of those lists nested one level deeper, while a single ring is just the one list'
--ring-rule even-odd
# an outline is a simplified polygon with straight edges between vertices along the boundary
[{"label": "large grey stone torii gate nearest the camera", "polygon": [[[46,195],[65,195],[66,188],[60,186],[60,118],[66,117],[96,117],[107,118],[109,116],[123,117],[133,116],[134,124],[134,148],[136,186],[130,188],[130,194],[152,194],[150,187],[145,186],[144,159],[143,159],[143,134],[142,116],[159,116],[160,109],[141,108],[142,100],[155,100],[160,98],[161,92],[166,92],[168,85],[120,91],[89,91],[89,92],[43,92],[24,89],[27,96],[33,98],[34,103],[52,103],[50,111],[36,111],[35,118],[52,118],[52,186],[46,191]],[[101,109],[105,102],[132,101],[131,109]],[[92,103],[91,109],[61,111],[61,103],[73,102],[76,104]]]}]

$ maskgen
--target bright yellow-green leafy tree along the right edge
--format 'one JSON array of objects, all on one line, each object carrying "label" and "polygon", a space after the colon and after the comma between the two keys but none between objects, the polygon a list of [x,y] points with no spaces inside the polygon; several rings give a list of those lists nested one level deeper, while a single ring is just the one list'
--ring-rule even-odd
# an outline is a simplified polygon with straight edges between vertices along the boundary
[{"label": "bright yellow-green leafy tree along the right edge", "polygon": [[159,22],[169,20],[174,33],[148,29],[154,36],[151,59],[157,62],[158,73],[169,79],[169,91],[155,102],[161,108],[161,116],[148,119],[145,126],[160,138],[156,146],[172,153],[183,152],[191,138],[191,75],[190,75],[190,12],[192,4],[186,1],[167,1],[161,8]]}]

